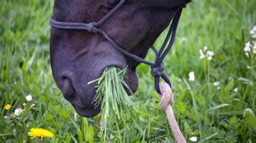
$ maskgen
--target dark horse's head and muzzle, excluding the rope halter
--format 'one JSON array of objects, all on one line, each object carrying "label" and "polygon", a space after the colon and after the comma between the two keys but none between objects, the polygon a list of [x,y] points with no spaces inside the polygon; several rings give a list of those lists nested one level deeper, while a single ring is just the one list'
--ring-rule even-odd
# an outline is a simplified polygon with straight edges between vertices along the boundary
[{"label": "dark horse's head and muzzle, excluding the rope halter", "polygon": [[[102,19],[120,0],[56,0],[52,19],[90,23]],[[191,0],[128,0],[99,27],[125,51],[145,58],[147,51],[170,24],[180,6]],[[138,87],[137,62],[120,53],[102,34],[52,28],[50,57],[53,77],[79,115],[100,112],[92,104],[96,83],[106,67],[127,67],[126,83]]]}]

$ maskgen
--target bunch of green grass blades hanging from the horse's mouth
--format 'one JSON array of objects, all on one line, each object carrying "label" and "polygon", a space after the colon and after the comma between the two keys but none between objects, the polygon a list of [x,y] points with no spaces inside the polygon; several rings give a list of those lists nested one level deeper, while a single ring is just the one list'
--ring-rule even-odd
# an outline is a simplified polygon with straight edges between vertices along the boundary
[{"label": "bunch of green grass blades hanging from the horse's mouth", "polygon": [[[93,101],[96,102],[96,107],[101,104],[100,136],[104,133],[104,140],[107,126],[116,124],[117,130],[119,130],[117,121],[124,121],[124,117],[130,118],[133,111],[138,112],[123,87],[124,85],[130,90],[124,81],[124,76],[125,69],[121,70],[112,66],[107,67],[102,76],[95,80],[98,81],[98,85]],[[130,92],[132,93],[131,90]],[[124,125],[126,124],[124,123]]]}]

